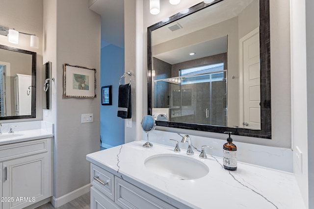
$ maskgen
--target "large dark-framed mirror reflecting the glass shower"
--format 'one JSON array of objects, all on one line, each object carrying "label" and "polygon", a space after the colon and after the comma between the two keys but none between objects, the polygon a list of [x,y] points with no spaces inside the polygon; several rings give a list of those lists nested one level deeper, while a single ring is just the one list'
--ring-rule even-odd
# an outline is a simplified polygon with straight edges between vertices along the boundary
[{"label": "large dark-framed mirror reflecting the glass shower", "polygon": [[148,27],[148,115],[271,139],[269,26],[269,0],[214,0]]}]

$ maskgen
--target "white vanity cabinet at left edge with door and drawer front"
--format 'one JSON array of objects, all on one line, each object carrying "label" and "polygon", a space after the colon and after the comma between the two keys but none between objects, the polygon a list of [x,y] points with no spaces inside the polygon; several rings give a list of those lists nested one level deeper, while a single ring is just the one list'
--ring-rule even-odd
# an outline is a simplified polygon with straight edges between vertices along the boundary
[{"label": "white vanity cabinet at left edge with door and drawer front", "polygon": [[52,139],[0,146],[0,209],[23,209],[52,196]]}]

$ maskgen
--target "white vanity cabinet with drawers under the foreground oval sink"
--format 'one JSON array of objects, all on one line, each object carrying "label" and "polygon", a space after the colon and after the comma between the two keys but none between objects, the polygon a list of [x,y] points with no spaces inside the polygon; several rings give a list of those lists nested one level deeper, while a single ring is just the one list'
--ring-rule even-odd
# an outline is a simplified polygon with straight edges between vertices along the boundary
[{"label": "white vanity cabinet with drawers under the foreground oval sink", "polygon": [[91,209],[176,209],[91,163]]}]

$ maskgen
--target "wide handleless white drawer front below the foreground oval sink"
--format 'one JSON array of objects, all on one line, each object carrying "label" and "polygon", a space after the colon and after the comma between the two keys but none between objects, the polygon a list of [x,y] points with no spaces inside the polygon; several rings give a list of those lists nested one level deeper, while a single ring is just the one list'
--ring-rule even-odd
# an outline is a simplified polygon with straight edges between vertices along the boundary
[{"label": "wide handleless white drawer front below the foreground oval sink", "polygon": [[115,177],[115,202],[127,209],[176,209],[168,203]]}]

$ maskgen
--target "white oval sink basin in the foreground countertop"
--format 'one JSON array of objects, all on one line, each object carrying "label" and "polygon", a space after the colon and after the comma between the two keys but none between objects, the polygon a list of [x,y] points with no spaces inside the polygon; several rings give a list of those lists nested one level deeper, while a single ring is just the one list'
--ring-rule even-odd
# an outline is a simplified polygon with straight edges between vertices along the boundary
[{"label": "white oval sink basin in the foreground countertop", "polygon": [[199,179],[209,173],[209,167],[188,156],[174,154],[153,155],[144,162],[145,167],[157,175],[175,179]]}]

